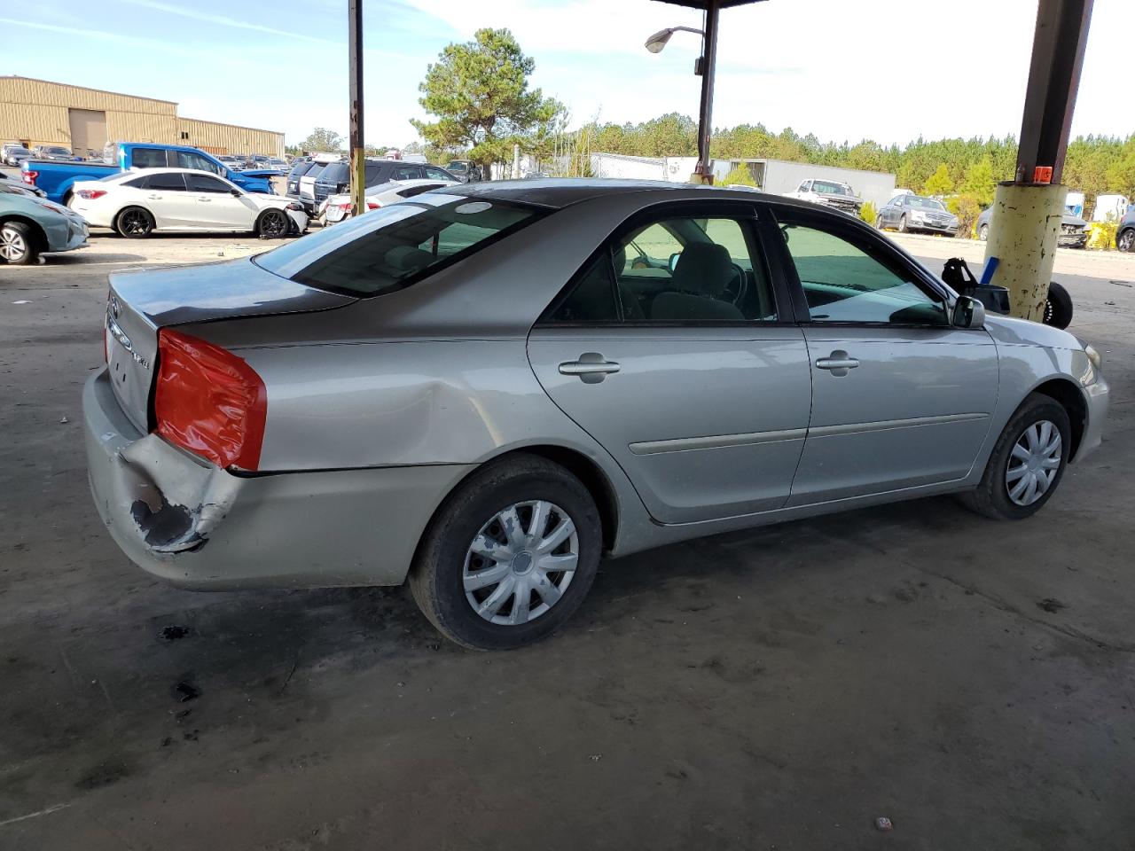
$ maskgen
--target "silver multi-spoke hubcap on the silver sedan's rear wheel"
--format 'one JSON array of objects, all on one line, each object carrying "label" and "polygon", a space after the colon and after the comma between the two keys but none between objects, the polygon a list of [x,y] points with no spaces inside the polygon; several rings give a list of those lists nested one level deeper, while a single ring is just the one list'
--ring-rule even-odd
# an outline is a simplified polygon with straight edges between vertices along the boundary
[{"label": "silver multi-spoke hubcap on the silver sedan's rear wheel", "polygon": [[473,612],[489,623],[535,621],[563,597],[579,563],[568,512],[543,499],[497,512],[465,553],[462,583]]}]

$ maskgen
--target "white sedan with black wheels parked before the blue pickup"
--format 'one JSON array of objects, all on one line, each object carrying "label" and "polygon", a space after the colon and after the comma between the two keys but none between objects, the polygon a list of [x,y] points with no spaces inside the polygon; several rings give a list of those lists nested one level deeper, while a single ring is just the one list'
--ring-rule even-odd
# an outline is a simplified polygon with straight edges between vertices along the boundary
[{"label": "white sedan with black wheels parked before the blue pickup", "polygon": [[308,229],[291,199],[249,193],[209,171],[152,168],[79,180],[70,208],[92,227],[137,238],[154,230],[254,233],[274,239]]}]

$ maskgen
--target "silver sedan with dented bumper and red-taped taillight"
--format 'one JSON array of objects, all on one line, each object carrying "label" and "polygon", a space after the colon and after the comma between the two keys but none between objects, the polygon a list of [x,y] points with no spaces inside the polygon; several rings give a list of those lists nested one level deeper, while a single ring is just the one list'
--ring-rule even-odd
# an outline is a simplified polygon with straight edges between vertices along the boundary
[{"label": "silver sedan with dented bumper and red-taped taillight", "polygon": [[1100,356],[985,315],[869,226],[746,191],[438,189],[253,259],[110,278],[91,486],[194,589],[398,584],[477,648],[602,555],[957,492],[1037,511]]}]

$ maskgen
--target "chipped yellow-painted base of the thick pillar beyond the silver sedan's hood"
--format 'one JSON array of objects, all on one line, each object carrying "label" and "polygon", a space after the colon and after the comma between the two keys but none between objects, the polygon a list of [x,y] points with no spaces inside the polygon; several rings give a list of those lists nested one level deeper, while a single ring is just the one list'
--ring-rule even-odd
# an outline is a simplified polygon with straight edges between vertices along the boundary
[{"label": "chipped yellow-painted base of the thick pillar beyond the silver sedan's hood", "polygon": [[1068,187],[1059,184],[1012,184],[997,187],[985,260],[1000,266],[992,284],[1009,289],[1010,313],[1040,322],[1049,297],[1057,235]]}]

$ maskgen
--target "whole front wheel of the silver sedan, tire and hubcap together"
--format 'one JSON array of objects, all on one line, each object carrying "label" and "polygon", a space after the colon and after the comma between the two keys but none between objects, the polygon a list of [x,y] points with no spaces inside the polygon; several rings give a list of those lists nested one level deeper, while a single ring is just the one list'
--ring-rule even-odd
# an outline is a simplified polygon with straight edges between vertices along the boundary
[{"label": "whole front wheel of the silver sedan, tire and hubcap together", "polygon": [[1068,413],[1056,399],[1034,393],[1006,424],[981,483],[961,495],[961,503],[993,520],[1028,517],[1056,492],[1070,449]]}]

